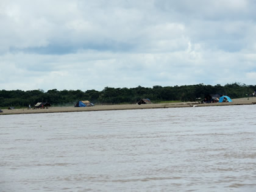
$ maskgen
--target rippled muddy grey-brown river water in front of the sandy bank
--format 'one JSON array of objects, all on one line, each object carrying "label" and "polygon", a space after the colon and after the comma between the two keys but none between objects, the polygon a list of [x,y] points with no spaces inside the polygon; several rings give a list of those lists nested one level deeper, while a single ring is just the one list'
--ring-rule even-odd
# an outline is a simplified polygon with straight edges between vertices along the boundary
[{"label": "rippled muddy grey-brown river water in front of the sandy bank", "polygon": [[256,191],[256,105],[0,116],[0,191]]}]

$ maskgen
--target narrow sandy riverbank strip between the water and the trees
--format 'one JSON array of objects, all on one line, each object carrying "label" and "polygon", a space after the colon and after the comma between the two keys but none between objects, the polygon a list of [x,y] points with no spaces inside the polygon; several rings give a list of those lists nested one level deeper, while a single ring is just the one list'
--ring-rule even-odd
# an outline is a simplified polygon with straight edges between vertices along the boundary
[{"label": "narrow sandy riverbank strip between the water and the trees", "polygon": [[170,108],[170,107],[207,107],[225,105],[252,105],[256,104],[256,98],[232,99],[233,102],[199,104],[197,102],[175,102],[162,104],[125,104],[125,105],[95,105],[93,107],[49,107],[38,109],[14,108],[12,110],[2,109],[0,115],[29,114],[29,113],[63,113],[63,112],[91,112],[104,110],[132,110],[146,108]]}]

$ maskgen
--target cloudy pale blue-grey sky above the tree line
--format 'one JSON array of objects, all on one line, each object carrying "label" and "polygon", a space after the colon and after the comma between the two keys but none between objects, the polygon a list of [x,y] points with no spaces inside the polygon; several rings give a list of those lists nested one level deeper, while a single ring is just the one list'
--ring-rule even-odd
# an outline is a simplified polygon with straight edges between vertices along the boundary
[{"label": "cloudy pale blue-grey sky above the tree line", "polygon": [[0,90],[256,84],[254,0],[1,0]]}]

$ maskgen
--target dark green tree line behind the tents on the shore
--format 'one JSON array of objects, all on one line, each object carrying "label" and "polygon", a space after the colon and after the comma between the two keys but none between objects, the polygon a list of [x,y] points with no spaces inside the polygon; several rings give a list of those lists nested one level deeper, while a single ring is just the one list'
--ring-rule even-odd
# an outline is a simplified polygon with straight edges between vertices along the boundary
[{"label": "dark green tree line behind the tents on the shore", "polygon": [[77,101],[88,100],[94,104],[135,104],[142,98],[149,98],[152,102],[164,101],[195,101],[208,94],[227,95],[230,98],[244,98],[256,91],[256,85],[226,84],[222,85],[182,85],[182,86],[154,86],[136,88],[105,87],[97,90],[0,90],[0,107],[27,107],[37,102],[49,102],[53,106],[70,106]]}]

